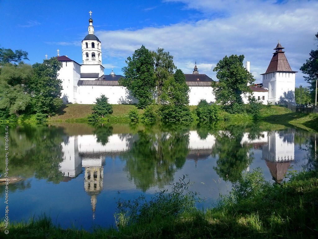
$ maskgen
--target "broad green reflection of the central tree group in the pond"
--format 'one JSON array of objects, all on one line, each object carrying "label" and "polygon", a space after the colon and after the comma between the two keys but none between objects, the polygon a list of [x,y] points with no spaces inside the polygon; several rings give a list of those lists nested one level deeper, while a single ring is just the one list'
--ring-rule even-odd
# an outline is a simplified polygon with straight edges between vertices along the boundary
[{"label": "broad green reflection of the central tree group in the pond", "polygon": [[138,138],[123,156],[130,180],[144,192],[151,186],[163,187],[172,182],[189,153],[188,130],[144,130],[138,132]]}]

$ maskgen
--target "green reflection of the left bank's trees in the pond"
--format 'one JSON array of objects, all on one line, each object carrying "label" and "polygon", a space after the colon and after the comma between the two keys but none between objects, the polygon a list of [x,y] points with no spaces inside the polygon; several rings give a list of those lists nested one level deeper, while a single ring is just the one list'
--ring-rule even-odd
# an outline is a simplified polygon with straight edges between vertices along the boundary
[{"label": "green reflection of the left bank's trees in the pond", "polygon": [[[3,129],[2,129],[3,130]],[[63,160],[59,127],[17,127],[9,129],[10,176],[46,179],[53,183],[63,180],[59,163]],[[4,147],[2,147],[4,148]],[[4,161],[1,163],[1,168]]]}]

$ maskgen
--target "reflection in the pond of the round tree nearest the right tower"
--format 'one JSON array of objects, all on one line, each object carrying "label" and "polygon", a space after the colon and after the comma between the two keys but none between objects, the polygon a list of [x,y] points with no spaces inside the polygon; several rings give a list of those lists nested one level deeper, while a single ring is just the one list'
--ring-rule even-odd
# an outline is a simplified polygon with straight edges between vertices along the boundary
[{"label": "reflection in the pond of the round tree nearest the right tower", "polygon": [[241,172],[252,163],[249,149],[252,146],[241,144],[244,134],[242,127],[230,126],[216,135],[212,156],[218,155],[217,167],[213,169],[225,181],[236,182]]}]

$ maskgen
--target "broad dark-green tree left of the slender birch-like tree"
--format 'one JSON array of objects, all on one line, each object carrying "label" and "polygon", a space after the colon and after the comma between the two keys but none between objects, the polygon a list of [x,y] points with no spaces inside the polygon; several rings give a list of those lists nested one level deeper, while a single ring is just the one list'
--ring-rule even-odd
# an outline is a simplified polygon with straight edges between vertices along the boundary
[{"label": "broad dark-green tree left of the slender birch-like tree", "polygon": [[152,102],[152,93],[155,90],[154,62],[151,52],[142,45],[135,50],[132,57],[126,60],[127,66],[122,68],[125,79],[119,84],[127,87],[132,95],[139,100],[138,108],[145,108]]}]

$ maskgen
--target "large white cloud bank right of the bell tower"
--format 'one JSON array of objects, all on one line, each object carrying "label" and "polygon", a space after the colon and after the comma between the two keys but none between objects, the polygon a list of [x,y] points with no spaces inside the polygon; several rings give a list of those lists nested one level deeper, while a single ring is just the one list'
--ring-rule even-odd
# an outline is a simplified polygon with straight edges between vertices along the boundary
[{"label": "large white cloud bank right of the bell tower", "polygon": [[[164,48],[174,56],[176,66],[191,73],[195,60],[200,73],[216,80],[213,67],[225,55],[244,54],[258,82],[266,71],[277,41],[286,50],[293,70],[308,59],[318,29],[316,1],[178,1],[196,9],[204,19],[138,30],[95,32],[103,46],[103,57],[117,58],[117,64],[145,45]],[[215,15],[219,14],[219,15]],[[216,17],[217,16],[217,17]],[[119,57],[119,59],[118,59]],[[107,62],[108,63],[108,62]],[[301,74],[296,76],[303,83]],[[296,84],[297,85],[297,84]]]}]

